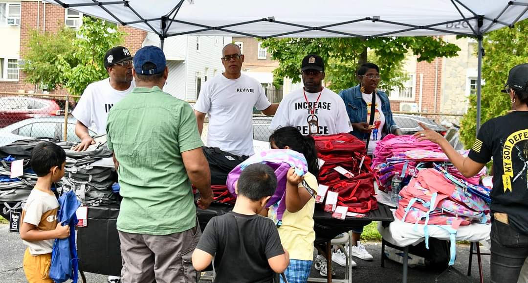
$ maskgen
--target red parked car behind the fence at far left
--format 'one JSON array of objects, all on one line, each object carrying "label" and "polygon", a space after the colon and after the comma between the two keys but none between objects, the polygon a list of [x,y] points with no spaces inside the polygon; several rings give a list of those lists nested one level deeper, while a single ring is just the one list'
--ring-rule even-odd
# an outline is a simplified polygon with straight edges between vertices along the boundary
[{"label": "red parked car behind the fence at far left", "polygon": [[61,108],[52,99],[4,96],[0,97],[0,127],[35,117],[61,114]]}]

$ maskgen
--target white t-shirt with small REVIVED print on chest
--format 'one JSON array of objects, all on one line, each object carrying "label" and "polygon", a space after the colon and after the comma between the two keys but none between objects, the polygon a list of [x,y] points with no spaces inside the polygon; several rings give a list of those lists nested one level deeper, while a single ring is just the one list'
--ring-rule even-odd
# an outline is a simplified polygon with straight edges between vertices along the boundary
[{"label": "white t-shirt with small REVIVED print on chest", "polygon": [[252,155],[253,106],[264,110],[270,105],[256,79],[246,75],[228,79],[220,74],[202,86],[194,109],[209,115],[208,147]]}]

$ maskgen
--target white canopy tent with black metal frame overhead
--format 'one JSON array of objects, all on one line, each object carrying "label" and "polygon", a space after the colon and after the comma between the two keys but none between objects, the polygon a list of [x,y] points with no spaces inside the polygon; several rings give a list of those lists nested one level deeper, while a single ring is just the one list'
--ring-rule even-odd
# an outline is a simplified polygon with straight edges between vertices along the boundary
[{"label": "white canopy tent with black metal frame overhead", "polygon": [[[528,17],[528,0],[45,0],[168,36],[360,37],[467,35],[478,39],[477,131],[482,38]],[[504,70],[507,71],[507,70]]]}]

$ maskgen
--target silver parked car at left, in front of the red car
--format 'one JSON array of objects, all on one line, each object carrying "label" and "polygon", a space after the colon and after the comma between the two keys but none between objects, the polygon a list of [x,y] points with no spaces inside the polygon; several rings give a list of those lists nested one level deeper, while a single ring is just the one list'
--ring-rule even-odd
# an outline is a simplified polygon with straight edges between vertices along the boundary
[{"label": "silver parked car at left, in front of the red car", "polygon": [[[79,138],[75,134],[76,118],[68,118],[67,140],[71,142],[78,142]],[[96,133],[88,130],[90,135]],[[30,118],[16,122],[9,126],[0,129],[0,146],[10,144],[17,140],[32,139],[32,138],[53,138],[56,140],[64,140],[64,117],[41,117]]]}]

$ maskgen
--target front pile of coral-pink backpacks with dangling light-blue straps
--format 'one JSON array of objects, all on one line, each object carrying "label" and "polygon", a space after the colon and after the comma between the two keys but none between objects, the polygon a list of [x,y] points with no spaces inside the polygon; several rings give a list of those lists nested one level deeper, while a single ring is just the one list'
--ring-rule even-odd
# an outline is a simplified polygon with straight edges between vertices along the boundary
[{"label": "front pile of coral-pink backpacks with dangling light-blue straps", "polygon": [[[451,260],[455,261],[456,233],[460,225],[487,222],[489,206],[478,194],[457,184],[441,166],[418,169],[416,177],[400,191],[395,217],[403,222],[422,224],[429,241],[429,227],[435,225],[451,235]],[[467,184],[467,183],[466,183]]]}]

